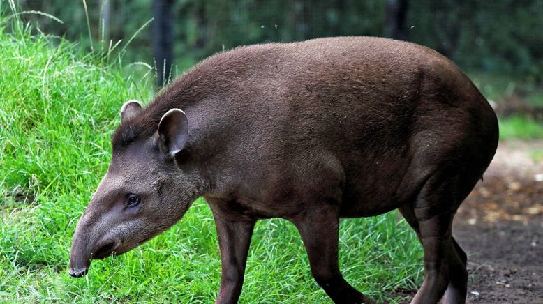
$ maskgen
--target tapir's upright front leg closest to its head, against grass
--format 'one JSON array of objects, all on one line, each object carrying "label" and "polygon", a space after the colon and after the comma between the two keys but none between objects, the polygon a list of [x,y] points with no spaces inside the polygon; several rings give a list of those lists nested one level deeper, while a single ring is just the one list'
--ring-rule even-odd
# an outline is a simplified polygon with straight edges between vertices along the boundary
[{"label": "tapir's upright front leg closest to its head, against grass", "polygon": [[221,248],[221,289],[216,303],[237,303],[255,221],[231,222],[213,213]]}]

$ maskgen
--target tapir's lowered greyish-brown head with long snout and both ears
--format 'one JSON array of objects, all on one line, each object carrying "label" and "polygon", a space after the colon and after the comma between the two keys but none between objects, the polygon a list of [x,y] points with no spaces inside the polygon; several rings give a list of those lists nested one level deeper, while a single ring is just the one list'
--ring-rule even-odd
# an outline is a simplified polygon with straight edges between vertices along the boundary
[{"label": "tapir's lowered greyish-brown head with long snout and both ears", "polygon": [[85,275],[92,259],[122,254],[168,229],[198,196],[193,173],[175,160],[188,142],[185,113],[170,109],[152,123],[144,112],[134,100],[121,108],[110,167],[73,236],[74,277]]}]

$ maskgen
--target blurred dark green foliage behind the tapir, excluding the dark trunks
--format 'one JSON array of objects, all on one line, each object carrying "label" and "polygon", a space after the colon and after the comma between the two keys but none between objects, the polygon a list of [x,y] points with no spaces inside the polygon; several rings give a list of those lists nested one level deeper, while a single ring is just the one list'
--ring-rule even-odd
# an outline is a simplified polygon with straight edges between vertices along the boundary
[{"label": "blurred dark green foliage behind the tapir, excluding the dark trunks", "polygon": [[[385,36],[385,0],[177,0],[174,1],[174,61],[184,70],[223,49],[250,43],[322,36]],[[24,15],[46,33],[89,47],[83,1],[20,0]],[[108,4],[109,3],[109,4]],[[110,5],[107,29],[101,8]],[[125,42],[151,19],[151,0],[87,1],[93,40]],[[408,0],[407,39],[451,57],[464,70],[507,73],[523,82],[543,82],[543,1]],[[105,35],[103,35],[103,33]],[[124,57],[153,63],[151,31],[142,30]],[[106,42],[107,44],[107,42]],[[174,71],[175,72],[175,71]],[[178,72],[179,73],[179,72]]]}]

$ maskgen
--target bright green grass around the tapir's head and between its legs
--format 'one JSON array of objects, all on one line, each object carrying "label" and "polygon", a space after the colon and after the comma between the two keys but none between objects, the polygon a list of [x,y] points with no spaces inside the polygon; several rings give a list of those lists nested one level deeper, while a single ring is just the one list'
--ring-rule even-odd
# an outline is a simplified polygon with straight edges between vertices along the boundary
[{"label": "bright green grass around the tapir's head and between its legs", "polygon": [[[1,11],[1,9],[0,9]],[[121,257],[67,273],[77,219],[110,159],[124,101],[149,79],[0,17],[0,302],[210,303],[220,280],[213,219],[200,199],[169,231]],[[398,301],[422,280],[422,250],[396,213],[341,222],[341,268],[357,289]],[[330,303],[311,278],[297,231],[259,222],[241,303]]]}]

